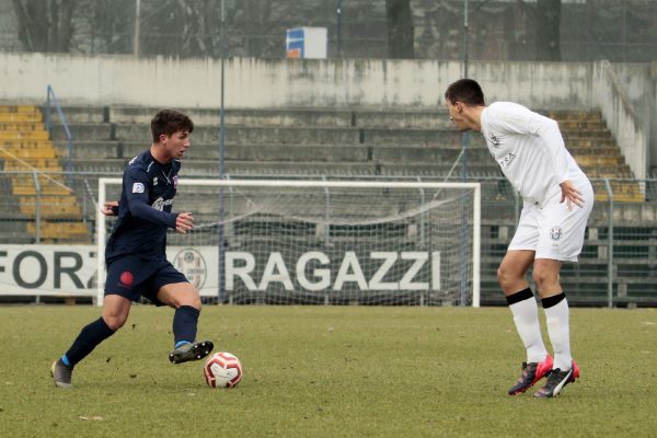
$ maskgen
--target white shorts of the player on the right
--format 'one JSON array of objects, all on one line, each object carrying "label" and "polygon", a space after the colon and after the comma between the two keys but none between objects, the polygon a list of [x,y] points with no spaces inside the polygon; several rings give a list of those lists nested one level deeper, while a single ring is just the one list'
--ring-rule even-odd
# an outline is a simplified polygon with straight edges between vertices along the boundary
[{"label": "white shorts of the player on the right", "polygon": [[573,206],[561,200],[561,191],[548,198],[544,205],[525,203],[511,250],[535,251],[534,258],[550,258],[562,262],[577,262],[584,246],[586,222],[593,208],[593,188],[590,183],[578,186],[584,198],[584,207]]}]

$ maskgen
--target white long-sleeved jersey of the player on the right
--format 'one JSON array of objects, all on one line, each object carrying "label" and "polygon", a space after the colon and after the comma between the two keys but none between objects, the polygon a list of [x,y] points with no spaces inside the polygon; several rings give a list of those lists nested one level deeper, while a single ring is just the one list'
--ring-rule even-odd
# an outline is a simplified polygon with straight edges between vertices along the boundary
[{"label": "white long-sleeved jersey of the player on the right", "polygon": [[566,180],[576,187],[588,183],[553,119],[517,103],[496,102],[484,108],[481,125],[491,154],[526,201],[542,205],[561,193]]}]

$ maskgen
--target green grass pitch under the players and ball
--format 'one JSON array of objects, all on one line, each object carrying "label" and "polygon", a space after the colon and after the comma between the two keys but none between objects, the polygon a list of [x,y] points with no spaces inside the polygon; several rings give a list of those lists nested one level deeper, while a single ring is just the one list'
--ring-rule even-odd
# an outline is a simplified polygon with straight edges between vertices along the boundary
[{"label": "green grass pitch under the players and ball", "polygon": [[208,306],[199,337],[244,367],[239,387],[211,390],[201,362],[169,362],[172,311],[136,306],[74,389],[56,389],[50,364],[99,314],[0,308],[2,436],[657,435],[653,309],[572,309],[581,379],[552,400],[507,395],[525,355],[505,308]]}]

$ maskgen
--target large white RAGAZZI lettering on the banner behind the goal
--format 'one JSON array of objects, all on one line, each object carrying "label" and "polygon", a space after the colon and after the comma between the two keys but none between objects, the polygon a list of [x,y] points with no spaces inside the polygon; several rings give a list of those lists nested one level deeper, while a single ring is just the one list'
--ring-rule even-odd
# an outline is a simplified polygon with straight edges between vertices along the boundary
[{"label": "large white RAGAZZI lettering on the banner behind the goal", "polygon": [[[365,263],[368,268],[364,270]],[[260,278],[254,278],[255,270],[256,260],[252,253],[227,252],[226,289],[243,286],[249,290],[266,290],[270,284],[279,284],[286,290],[295,290],[281,253],[269,254],[264,268],[257,269],[262,273]],[[355,287],[360,290],[440,290],[440,252],[370,252],[367,261],[359,260],[355,252],[345,252],[337,265],[326,254],[310,251],[299,256],[293,273],[298,286],[311,291]]]}]

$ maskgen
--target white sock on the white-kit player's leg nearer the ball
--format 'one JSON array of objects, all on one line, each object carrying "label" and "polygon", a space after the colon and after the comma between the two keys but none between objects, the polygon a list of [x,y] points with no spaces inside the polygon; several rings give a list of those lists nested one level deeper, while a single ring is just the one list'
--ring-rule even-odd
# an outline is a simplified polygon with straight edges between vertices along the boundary
[{"label": "white sock on the white-kit player's leg nearer the ball", "polygon": [[527,349],[527,362],[542,362],[548,356],[548,350],[541,336],[537,300],[532,296],[509,304],[509,309],[514,314],[516,330],[520,335],[520,339],[522,339],[522,344],[525,344],[525,349]]}]

